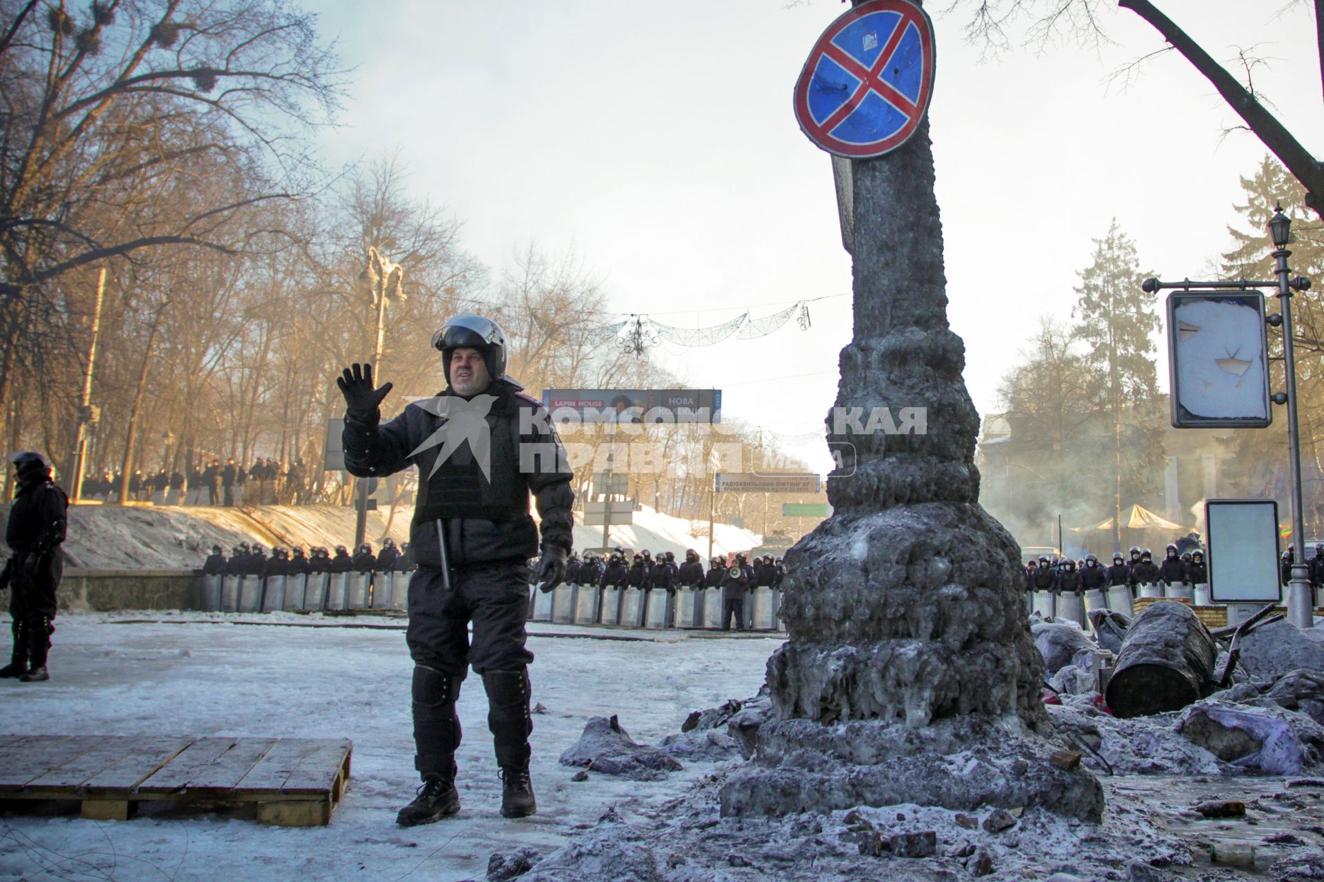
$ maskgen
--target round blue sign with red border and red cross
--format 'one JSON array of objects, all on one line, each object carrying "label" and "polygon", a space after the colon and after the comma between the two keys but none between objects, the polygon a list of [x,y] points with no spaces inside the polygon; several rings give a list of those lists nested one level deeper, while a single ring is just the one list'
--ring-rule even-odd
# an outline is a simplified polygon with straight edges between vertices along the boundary
[{"label": "round blue sign with red border and red cross", "polygon": [[869,159],[904,144],[933,93],[933,22],[911,0],[870,0],[837,19],[796,81],[796,120],[818,147]]}]

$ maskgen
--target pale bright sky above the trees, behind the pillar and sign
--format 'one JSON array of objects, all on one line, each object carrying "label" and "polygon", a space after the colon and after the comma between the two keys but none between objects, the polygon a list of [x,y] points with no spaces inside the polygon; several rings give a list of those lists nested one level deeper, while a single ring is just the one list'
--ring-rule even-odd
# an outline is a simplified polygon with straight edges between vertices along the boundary
[{"label": "pale bright sky above the trees, behind the pillar and sign", "polygon": [[[1219,61],[1238,48],[1270,58],[1256,89],[1320,155],[1311,4],[1160,5]],[[416,194],[461,217],[466,249],[495,272],[528,241],[573,247],[605,279],[612,309],[685,327],[829,298],[810,305],[808,332],[792,323],[756,341],[665,344],[654,357],[691,386],[722,389],[727,413],[806,434],[797,452],[830,468],[821,421],[851,335],[850,255],[829,157],[800,132],[790,98],[810,46],[845,4],[311,8],[357,67],[324,160],[399,148]],[[935,12],[929,119],[948,317],[965,340],[965,381],[981,413],[997,407],[998,380],[1038,316],[1070,315],[1091,239],[1111,218],[1135,238],[1145,268],[1169,279],[1206,274],[1229,245],[1238,177],[1266,152],[1251,135],[1225,136],[1238,118],[1177,53],[1147,62],[1129,87],[1107,82],[1162,42],[1131,12],[1103,21],[1116,41],[1103,50],[1064,42],[981,62],[964,16]],[[1161,348],[1158,357],[1166,385]]]}]

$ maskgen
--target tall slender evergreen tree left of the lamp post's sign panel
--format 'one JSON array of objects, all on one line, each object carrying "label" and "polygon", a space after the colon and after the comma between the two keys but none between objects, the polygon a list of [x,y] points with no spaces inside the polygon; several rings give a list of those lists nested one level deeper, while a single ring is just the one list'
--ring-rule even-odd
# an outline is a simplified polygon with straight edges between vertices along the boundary
[{"label": "tall slender evergreen tree left of the lamp post's sign panel", "polygon": [[[1158,316],[1153,295],[1141,291],[1148,272],[1140,271],[1136,246],[1113,218],[1108,233],[1094,241],[1092,263],[1080,271],[1079,295],[1071,315],[1076,319],[1075,336],[1090,349],[1084,364],[1098,372],[1103,385],[1106,417],[1111,422],[1112,450],[1108,468],[1112,488],[1113,550],[1121,550],[1121,487],[1132,479],[1152,475],[1161,463],[1162,447],[1144,443],[1128,446],[1123,458],[1123,439],[1135,435],[1135,414],[1158,394],[1155,368],[1155,333]],[[1140,432],[1141,436],[1145,432]]]}]

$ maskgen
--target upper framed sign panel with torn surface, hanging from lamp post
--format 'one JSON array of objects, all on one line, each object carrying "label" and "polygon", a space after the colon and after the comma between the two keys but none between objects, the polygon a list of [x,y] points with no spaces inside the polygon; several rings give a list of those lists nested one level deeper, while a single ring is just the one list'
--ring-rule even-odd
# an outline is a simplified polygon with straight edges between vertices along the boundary
[{"label": "upper framed sign panel with torn surface, hanging from lamp post", "polygon": [[1173,426],[1262,428],[1272,422],[1264,295],[1172,292],[1168,352]]}]

